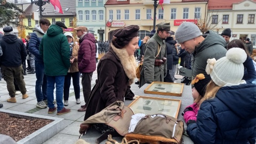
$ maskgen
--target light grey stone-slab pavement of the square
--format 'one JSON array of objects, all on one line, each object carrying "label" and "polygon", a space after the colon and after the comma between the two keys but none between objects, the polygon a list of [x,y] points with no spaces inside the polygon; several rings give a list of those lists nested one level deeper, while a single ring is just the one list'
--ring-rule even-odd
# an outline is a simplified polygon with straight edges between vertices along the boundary
[{"label": "light grey stone-slab pavement of the square", "polygon": [[[98,63],[97,63],[98,64]],[[44,116],[52,116],[52,117],[59,117],[59,118],[64,118],[65,122],[65,129],[59,132],[58,134],[54,135],[51,139],[47,140],[44,142],[44,144],[73,144],[78,140],[79,136],[79,125],[81,122],[83,122],[84,119],[84,112],[78,112],[77,109],[80,108],[81,105],[84,105],[84,98],[83,98],[83,92],[82,92],[82,84],[81,84],[81,79],[80,78],[80,87],[81,87],[81,93],[80,93],[80,100],[81,104],[77,105],[76,104],[76,99],[74,95],[74,88],[73,88],[73,83],[71,82],[70,85],[70,95],[69,95],[69,105],[66,108],[70,108],[71,111],[68,114],[64,115],[57,115],[57,112],[53,114],[48,114],[48,108],[37,108],[36,107],[36,95],[35,95],[35,84],[36,84],[36,75],[35,74],[30,74],[30,75],[25,75],[25,83],[26,83],[26,88],[27,88],[27,93],[29,97],[25,100],[22,99],[22,94],[16,95],[17,103],[9,103],[6,102],[6,99],[8,99],[9,93],[6,88],[6,82],[2,78],[2,81],[0,81],[0,103],[3,103],[3,108],[2,109],[8,109],[8,110],[13,110],[13,111],[21,111],[25,113],[31,113],[31,114],[36,114],[36,115],[44,115]],[[177,83],[180,83],[182,76],[180,75],[175,75],[176,78],[178,78]],[[95,85],[95,80],[97,79],[97,70],[94,71],[93,76],[92,76],[92,82],[91,85],[92,87]],[[72,79],[71,79],[72,81]],[[137,79],[135,79],[134,82],[137,82]],[[136,95],[137,91],[139,90],[138,85],[132,84],[131,85],[131,90],[133,93]],[[55,97],[55,90],[54,90],[54,97]],[[55,106],[57,106],[55,104]]]}]

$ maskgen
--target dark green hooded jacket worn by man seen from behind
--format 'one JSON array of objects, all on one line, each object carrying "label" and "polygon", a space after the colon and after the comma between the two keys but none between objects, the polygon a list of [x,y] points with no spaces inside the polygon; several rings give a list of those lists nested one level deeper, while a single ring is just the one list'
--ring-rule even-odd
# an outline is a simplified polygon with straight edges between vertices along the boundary
[{"label": "dark green hooded jacket worn by man seen from behind", "polygon": [[70,67],[70,48],[67,37],[59,26],[50,26],[42,38],[39,52],[44,60],[45,75],[67,75]]}]

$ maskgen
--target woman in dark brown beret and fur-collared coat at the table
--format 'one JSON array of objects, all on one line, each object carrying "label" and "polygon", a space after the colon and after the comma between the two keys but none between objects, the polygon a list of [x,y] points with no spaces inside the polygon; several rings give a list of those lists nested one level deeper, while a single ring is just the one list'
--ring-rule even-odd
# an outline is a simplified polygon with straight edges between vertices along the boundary
[{"label": "woman in dark brown beret and fur-collared coat at the table", "polygon": [[115,101],[124,101],[129,93],[129,87],[136,77],[133,54],[139,49],[138,30],[139,26],[131,25],[119,29],[114,35],[109,51],[98,64],[98,80],[90,94],[84,120]]}]

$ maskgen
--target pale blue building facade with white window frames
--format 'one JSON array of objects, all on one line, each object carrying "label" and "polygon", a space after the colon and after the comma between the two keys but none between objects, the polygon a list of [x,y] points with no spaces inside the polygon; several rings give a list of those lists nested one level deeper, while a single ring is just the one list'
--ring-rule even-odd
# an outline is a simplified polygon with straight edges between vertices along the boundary
[{"label": "pale blue building facade with white window frames", "polygon": [[77,25],[85,26],[95,39],[105,40],[105,0],[76,0]]}]

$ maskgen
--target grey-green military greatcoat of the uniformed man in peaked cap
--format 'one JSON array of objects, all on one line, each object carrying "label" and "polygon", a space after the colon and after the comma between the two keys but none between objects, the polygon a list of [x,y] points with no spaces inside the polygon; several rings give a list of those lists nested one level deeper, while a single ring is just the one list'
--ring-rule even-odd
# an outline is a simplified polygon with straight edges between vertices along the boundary
[{"label": "grey-green military greatcoat of the uniformed man in peaked cap", "polygon": [[162,46],[161,51],[159,52],[158,58],[166,58],[166,44],[156,33],[153,37],[149,39],[145,48],[145,55],[143,61],[143,68],[141,70],[141,86],[146,83],[155,82],[164,82],[164,77],[167,74],[166,63],[161,66],[155,66],[155,57],[158,53],[158,44]]}]

